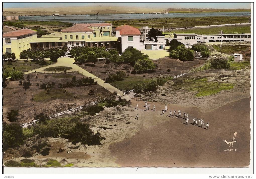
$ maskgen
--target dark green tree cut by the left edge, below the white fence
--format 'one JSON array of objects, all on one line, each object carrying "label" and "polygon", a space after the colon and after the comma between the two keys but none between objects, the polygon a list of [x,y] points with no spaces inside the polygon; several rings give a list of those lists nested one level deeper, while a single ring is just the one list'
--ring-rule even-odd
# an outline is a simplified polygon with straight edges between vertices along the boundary
[{"label": "dark green tree cut by the left edge, below the white fence", "polygon": [[24,135],[22,132],[22,127],[13,122],[11,124],[6,124],[3,122],[3,151],[9,148],[15,148],[22,145],[24,142]]}]

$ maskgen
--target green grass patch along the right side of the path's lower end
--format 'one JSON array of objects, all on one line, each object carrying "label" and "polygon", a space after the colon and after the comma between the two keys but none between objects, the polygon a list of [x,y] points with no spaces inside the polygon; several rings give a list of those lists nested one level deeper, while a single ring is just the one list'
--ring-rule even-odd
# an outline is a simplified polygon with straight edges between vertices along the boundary
[{"label": "green grass patch along the right side of the path's lower end", "polygon": [[145,80],[142,76],[133,76],[125,78],[123,81],[114,81],[110,84],[114,87],[120,89],[121,91],[128,91],[133,89],[134,85],[142,83]]}]

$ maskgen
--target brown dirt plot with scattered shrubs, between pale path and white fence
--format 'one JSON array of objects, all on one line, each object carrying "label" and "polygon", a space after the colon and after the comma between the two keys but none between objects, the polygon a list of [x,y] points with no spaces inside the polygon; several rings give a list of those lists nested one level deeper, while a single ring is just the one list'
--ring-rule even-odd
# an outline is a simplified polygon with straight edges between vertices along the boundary
[{"label": "brown dirt plot with scattered shrubs, between pale path and white fence", "polygon": [[[44,78],[45,75],[47,78]],[[88,95],[91,88],[94,88],[96,94],[107,92],[100,85],[92,85],[66,88],[67,92],[64,93],[63,89],[59,88],[58,83],[70,81],[74,75],[77,80],[83,77],[80,73],[38,75],[37,73],[31,73],[29,74],[31,86],[27,89],[26,94],[25,89],[22,85],[19,85],[18,81],[9,80],[7,87],[3,88],[3,120],[7,121],[6,116],[9,110],[18,109],[20,118],[18,122],[21,124],[31,122],[34,120],[34,116],[41,112],[52,115],[82,105],[84,99],[95,99],[94,96]],[[37,79],[36,76],[38,76]],[[24,76],[24,79],[27,80],[27,75]],[[40,88],[40,84],[44,82],[56,83],[54,88],[50,89],[50,94],[46,94],[46,90]],[[36,86],[36,83],[39,83],[39,86]],[[14,90],[15,94],[13,94]]]}]

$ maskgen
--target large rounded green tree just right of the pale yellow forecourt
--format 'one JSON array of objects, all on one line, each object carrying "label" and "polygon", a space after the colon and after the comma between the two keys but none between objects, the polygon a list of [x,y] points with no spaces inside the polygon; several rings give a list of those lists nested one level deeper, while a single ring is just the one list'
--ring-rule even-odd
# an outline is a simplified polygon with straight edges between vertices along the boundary
[{"label": "large rounded green tree just right of the pale yellow forecourt", "polygon": [[186,48],[184,45],[179,45],[175,50],[171,50],[169,56],[182,61],[193,61],[195,59],[194,51]]}]

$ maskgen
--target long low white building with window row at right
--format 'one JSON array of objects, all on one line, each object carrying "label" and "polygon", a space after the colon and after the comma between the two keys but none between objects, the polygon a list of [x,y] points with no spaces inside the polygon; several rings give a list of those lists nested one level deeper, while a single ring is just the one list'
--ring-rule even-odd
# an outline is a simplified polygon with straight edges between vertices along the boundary
[{"label": "long low white building with window row at right", "polygon": [[213,34],[213,35],[198,35],[196,33],[174,33],[174,38],[165,38],[168,41],[177,39],[184,44],[192,45],[195,43],[204,42],[242,42],[251,41],[251,33],[241,34]]}]

